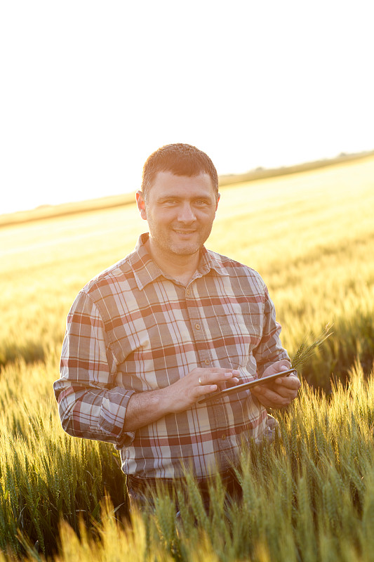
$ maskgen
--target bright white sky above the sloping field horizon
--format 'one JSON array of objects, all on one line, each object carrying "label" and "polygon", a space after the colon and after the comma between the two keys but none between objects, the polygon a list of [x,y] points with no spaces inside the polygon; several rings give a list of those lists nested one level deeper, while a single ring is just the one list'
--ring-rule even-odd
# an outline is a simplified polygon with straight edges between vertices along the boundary
[{"label": "bright white sky above the sloping field horizon", "polygon": [[0,214],[374,149],[372,2],[0,0]]}]

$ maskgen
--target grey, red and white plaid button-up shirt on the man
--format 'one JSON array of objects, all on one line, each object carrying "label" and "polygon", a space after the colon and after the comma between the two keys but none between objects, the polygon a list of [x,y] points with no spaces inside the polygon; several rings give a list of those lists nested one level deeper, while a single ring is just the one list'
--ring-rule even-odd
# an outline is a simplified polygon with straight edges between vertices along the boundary
[{"label": "grey, red and white plaid button-up shirt on the man", "polygon": [[163,275],[145,248],[79,292],[67,317],[61,377],[55,381],[62,426],[72,436],[114,443],[125,473],[174,478],[182,464],[197,477],[225,471],[243,438],[261,438],[267,411],[249,391],[168,414],[124,432],[135,392],[164,388],[195,367],[261,376],[288,355],[262,278],[251,268],[201,250],[187,287]]}]

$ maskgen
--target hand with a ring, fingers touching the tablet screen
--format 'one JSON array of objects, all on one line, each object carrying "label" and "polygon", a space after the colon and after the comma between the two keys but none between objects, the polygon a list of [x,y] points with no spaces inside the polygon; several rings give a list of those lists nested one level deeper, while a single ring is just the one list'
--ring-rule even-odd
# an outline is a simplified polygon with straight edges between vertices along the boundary
[{"label": "hand with a ring, fingers touching the tablet screen", "polygon": [[171,386],[163,388],[166,408],[169,412],[178,413],[188,410],[196,400],[226,388],[226,383],[238,384],[239,371],[220,368],[199,368],[192,370]]}]

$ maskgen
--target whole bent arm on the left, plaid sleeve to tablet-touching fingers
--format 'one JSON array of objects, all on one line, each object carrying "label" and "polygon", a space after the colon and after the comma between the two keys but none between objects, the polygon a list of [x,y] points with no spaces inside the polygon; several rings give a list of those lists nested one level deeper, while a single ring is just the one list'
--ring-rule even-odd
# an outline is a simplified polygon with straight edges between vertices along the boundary
[{"label": "whole bent arm on the left, plaid sleeve to tablet-touching fingers", "polygon": [[100,312],[87,294],[80,293],[67,317],[61,377],[53,385],[62,427],[70,435],[128,445],[140,427],[188,410],[225,381],[238,382],[239,374],[196,368],[171,386],[135,393],[115,385],[116,367]]}]

